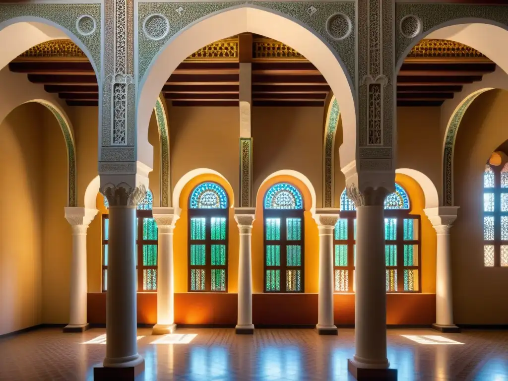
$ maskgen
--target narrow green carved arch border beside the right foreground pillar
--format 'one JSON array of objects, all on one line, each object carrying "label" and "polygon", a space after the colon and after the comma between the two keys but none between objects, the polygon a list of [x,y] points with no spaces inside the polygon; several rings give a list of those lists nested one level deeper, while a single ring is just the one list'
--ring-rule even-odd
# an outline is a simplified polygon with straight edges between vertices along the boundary
[{"label": "narrow green carved arch border beside the right foreground pillar", "polygon": [[325,120],[325,134],[323,142],[323,206],[332,208],[334,206],[334,151],[335,134],[339,121],[340,109],[335,96],[332,96],[328,104]]}]

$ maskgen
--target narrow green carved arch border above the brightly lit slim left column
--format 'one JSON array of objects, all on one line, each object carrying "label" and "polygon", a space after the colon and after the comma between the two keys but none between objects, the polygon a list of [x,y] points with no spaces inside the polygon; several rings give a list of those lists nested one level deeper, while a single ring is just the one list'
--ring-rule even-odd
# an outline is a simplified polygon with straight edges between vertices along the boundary
[{"label": "narrow green carved arch border above the brightly lit slim left column", "polygon": [[168,207],[171,202],[171,156],[169,153],[169,125],[166,114],[165,101],[162,97],[155,102],[155,118],[159,132],[161,147],[161,206]]}]

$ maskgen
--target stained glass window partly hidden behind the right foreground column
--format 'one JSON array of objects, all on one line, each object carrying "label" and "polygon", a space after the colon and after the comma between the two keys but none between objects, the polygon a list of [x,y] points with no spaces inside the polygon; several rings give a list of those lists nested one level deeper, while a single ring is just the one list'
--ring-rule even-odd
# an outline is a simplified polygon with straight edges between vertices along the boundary
[{"label": "stained glass window partly hidden behind the right foreground column", "polygon": [[[420,292],[420,216],[410,214],[409,197],[397,183],[384,206],[386,291]],[[356,208],[345,189],[340,209],[334,232],[334,291],[354,292]]]}]

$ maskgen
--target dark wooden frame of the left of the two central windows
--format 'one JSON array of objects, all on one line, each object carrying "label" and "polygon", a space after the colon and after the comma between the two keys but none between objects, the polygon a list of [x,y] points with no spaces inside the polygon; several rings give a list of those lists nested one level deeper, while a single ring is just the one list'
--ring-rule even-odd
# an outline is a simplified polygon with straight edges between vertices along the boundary
[{"label": "dark wooden frame of the left of the two central windows", "polygon": [[[212,217],[226,218],[226,239],[211,239],[211,219]],[[192,218],[205,218],[205,239],[202,240],[191,240],[190,239],[190,220]],[[187,245],[187,292],[189,293],[227,293],[228,292],[228,265],[229,265],[229,209],[188,209],[187,218],[187,232],[188,242]],[[205,265],[204,266],[191,266],[190,265],[190,246],[193,244],[205,245]],[[225,266],[212,266],[211,261],[211,248],[212,244],[224,244],[226,245],[226,265]],[[204,269],[205,270],[205,289],[204,290],[191,290],[190,272],[193,269]],[[226,271],[226,290],[224,291],[212,291],[211,290],[211,279],[212,269],[225,269]]]}]

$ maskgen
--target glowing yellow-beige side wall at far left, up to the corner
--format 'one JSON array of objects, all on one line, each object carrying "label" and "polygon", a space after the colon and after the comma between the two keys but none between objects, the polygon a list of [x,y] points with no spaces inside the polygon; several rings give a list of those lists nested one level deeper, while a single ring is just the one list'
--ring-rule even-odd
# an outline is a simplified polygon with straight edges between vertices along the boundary
[{"label": "glowing yellow-beige side wall at far left, up to the corner", "polygon": [[0,335],[42,322],[41,109],[22,105],[0,124]]}]

